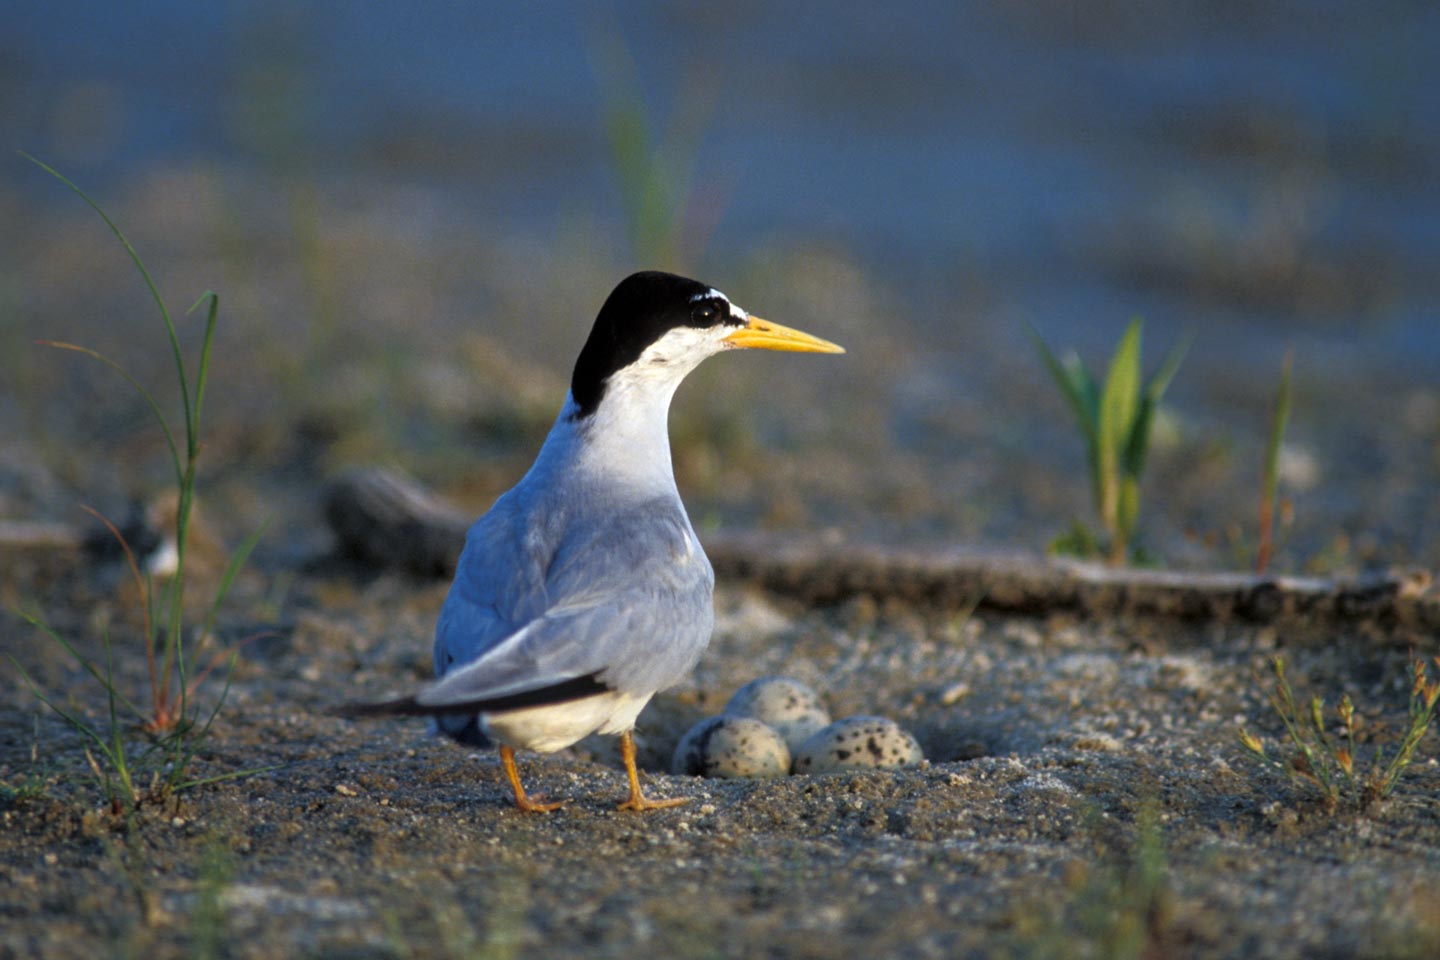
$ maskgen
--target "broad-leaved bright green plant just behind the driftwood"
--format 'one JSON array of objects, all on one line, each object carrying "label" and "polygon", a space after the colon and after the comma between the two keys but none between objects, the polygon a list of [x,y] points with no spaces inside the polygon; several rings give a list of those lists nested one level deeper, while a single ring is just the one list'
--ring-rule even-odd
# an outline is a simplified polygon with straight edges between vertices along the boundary
[{"label": "broad-leaved bright green plant just behind the driftwood", "polygon": [[1140,475],[1151,449],[1155,413],[1189,347],[1182,343],[1171,350],[1149,381],[1142,381],[1140,325],[1140,320],[1135,318],[1126,327],[1103,384],[1086,370],[1074,351],[1057,358],[1040,334],[1030,330],[1035,350],[1080,426],[1090,466],[1090,489],[1106,537],[1102,543],[1076,522],[1071,533],[1051,544],[1058,553],[1104,554],[1116,566],[1130,556],[1140,515]]}]

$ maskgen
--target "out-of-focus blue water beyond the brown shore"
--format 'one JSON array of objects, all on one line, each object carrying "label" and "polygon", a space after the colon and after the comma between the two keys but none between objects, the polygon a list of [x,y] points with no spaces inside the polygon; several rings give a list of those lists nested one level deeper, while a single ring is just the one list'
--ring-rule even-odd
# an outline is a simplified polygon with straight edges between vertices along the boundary
[{"label": "out-of-focus blue water beyond the brown shore", "polygon": [[[302,164],[423,181],[498,230],[618,223],[602,115],[632,76],[661,130],[708,109],[711,252],[824,237],[932,298],[979,278],[1081,347],[1143,312],[1269,367],[1303,335],[1440,371],[1440,4],[7,7],[0,141],[101,193],[151,164]],[[1197,259],[1257,236],[1349,271],[1339,294],[1197,292]]]}]

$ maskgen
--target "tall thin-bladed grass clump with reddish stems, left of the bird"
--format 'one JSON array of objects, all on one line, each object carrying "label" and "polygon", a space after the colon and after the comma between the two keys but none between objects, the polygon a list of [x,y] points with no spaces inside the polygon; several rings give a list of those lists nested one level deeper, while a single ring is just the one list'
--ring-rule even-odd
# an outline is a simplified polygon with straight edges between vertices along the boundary
[{"label": "tall thin-bladed grass clump with reddish stems, left of the bird", "polygon": [[[229,692],[229,681],[226,681],[225,692],[222,692],[219,702],[216,702],[207,715],[202,714],[200,708],[193,702],[193,694],[200,679],[203,679],[203,676],[209,674],[209,671],[222,659],[228,659],[229,665],[233,668],[236,651],[232,649],[228,653],[222,651],[217,655],[212,655],[210,664],[204,668],[199,668],[199,658],[202,648],[213,633],[220,603],[225,600],[230,584],[235,581],[235,577],[239,574],[251,551],[255,548],[255,544],[259,541],[264,527],[248,537],[245,543],[242,543],[240,547],[230,556],[216,589],[215,600],[209,607],[203,628],[197,633],[192,632],[192,636],[187,640],[184,629],[186,556],[187,545],[190,543],[190,515],[194,505],[196,466],[202,449],[200,412],[204,402],[204,389],[209,381],[210,354],[215,343],[215,330],[220,307],[219,296],[207,292],[196,301],[194,307],[190,308],[190,312],[193,312],[202,305],[206,307],[204,335],[200,343],[199,364],[193,371],[192,381],[192,371],[186,367],[184,354],[180,348],[180,337],[176,331],[174,321],[170,317],[170,309],[160,296],[160,291],[151,279],[150,271],[145,269],[144,262],[135,252],[135,248],[131,246],[130,240],[125,239],[125,235],[121,233],[114,220],[111,220],[99,204],[95,203],[84,190],[71,183],[59,171],[45,163],[40,163],[35,157],[30,157],[29,154],[22,155],[85,200],[85,203],[88,203],[101,216],[105,226],[109,227],[109,232],[117,240],[120,240],[121,246],[125,248],[125,253],[140,272],[145,288],[150,291],[156,307],[160,309],[160,317],[164,321],[166,332],[168,335],[170,351],[174,357],[176,373],[180,380],[180,399],[184,410],[183,450],[177,445],[176,433],[171,430],[170,423],[154,396],[124,367],[109,357],[86,347],[43,341],[50,347],[82,353],[88,357],[99,360],[105,366],[115,370],[140,393],[140,396],[150,406],[151,413],[164,433],[179,491],[176,507],[176,569],[158,600],[150,576],[141,573],[141,567],[135,561],[134,553],[130,550],[130,545],[124,541],[124,538],[120,537],[114,524],[101,517],[98,512],[91,511],[109,528],[117,540],[120,540],[131,576],[135,579],[137,586],[140,587],[140,596],[144,599],[144,643],[145,658],[150,668],[151,688],[148,710],[138,707],[132,699],[127,698],[117,689],[114,652],[111,649],[108,632],[102,638],[105,661],[104,664],[95,664],[85,656],[85,653],[82,653],[75,643],[53,630],[37,616],[23,612],[19,613],[23,620],[40,630],[40,633],[50,642],[63,648],[65,652],[84,666],[85,671],[105,689],[109,721],[108,728],[105,730],[91,724],[78,710],[66,707],[58,698],[42,691],[20,662],[16,661],[14,656],[10,656],[10,661],[14,664],[16,669],[20,671],[20,675],[24,678],[26,684],[36,694],[36,697],[39,697],[42,702],[45,702],[60,718],[81,733],[89,741],[89,747],[99,751],[104,761],[96,760],[89,747],[86,747],[91,769],[95,771],[96,779],[104,784],[112,809],[118,812],[124,806],[134,807],[145,797],[158,797],[167,792],[202,783],[200,780],[190,779],[187,769],[194,759],[199,744],[209,734],[210,725],[215,723],[220,707],[225,704],[225,694]],[[157,612],[166,620],[164,629],[156,623]],[[150,748],[134,757],[127,751],[127,735],[121,720],[122,714],[132,715],[141,728],[153,737]],[[147,770],[151,774],[148,783],[145,783],[143,776]],[[209,780],[204,782],[207,783]]]}]

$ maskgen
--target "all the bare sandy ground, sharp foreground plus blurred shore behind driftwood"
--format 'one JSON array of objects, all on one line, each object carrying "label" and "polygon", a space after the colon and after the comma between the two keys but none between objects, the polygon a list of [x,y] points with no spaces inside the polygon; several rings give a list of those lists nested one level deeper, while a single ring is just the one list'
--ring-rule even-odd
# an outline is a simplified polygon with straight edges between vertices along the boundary
[{"label": "all the bare sandy ground, sharp foreground plus blurred shore behind driftwood", "polygon": [[[271,209],[265,183],[160,171],[108,204],[171,305],[223,294],[200,505],[228,547],[269,527],[222,607],[239,658],[187,776],[233,779],[114,815],[94,746],[0,661],[0,956],[1440,954],[1436,734],[1365,812],[1328,809],[1237,738],[1244,723],[1283,748],[1257,676],[1283,652],[1302,697],[1354,698],[1362,769],[1391,754],[1410,656],[1437,652],[1433,630],[1394,622],[966,616],[723,581],[706,659],[641,717],[647,792],[690,799],[648,815],[615,809],[609,741],[521,757],[533,793],[569,799],[524,815],[491,753],[420,721],[330,715],[429,674],[445,584],[330,557],[325,482],[399,463],[478,514],[528,463],[595,292],[622,275],[602,239],[537,253],[451,220],[397,227],[386,196],[366,181],[325,194],[327,289],[307,286],[285,227],[233,236],[235,212]],[[7,201],[24,284],[0,331],[0,520],[75,525],[76,504],[122,517],[170,484],[148,407],[101,364],[33,341],[117,357],[177,423],[168,345],[88,210]],[[840,530],[1034,554],[1089,517],[1079,438],[999,307],[926,322],[852,258],[805,243],[707,276],[858,360],[697,371],[672,436],[703,535]],[[194,357],[196,325],[180,328]],[[1237,570],[1274,383],[1231,370],[1246,344],[1202,345],[1156,438],[1142,530],[1165,564]],[[1440,567],[1433,383],[1310,370],[1274,569]],[[120,689],[145,702],[140,617],[114,566],[0,550],[0,649],[105,730],[101,688],[16,609],[95,662],[108,635]],[[927,763],[763,782],[665,773],[684,730],[773,674],[814,685],[835,717],[891,717]],[[210,675],[199,702],[222,687]],[[144,734],[124,735],[140,757]]]}]

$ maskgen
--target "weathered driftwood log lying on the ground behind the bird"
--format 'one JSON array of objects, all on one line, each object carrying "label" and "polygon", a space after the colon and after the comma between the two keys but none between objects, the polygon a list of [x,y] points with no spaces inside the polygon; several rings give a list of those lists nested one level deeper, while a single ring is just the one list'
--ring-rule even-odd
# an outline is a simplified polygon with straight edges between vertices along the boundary
[{"label": "weathered driftwood log lying on the ground behind the bird", "polygon": [[[469,518],[413,479],[361,469],[330,489],[327,517],[348,556],[449,576]],[[1354,580],[1112,569],[1018,553],[897,548],[773,534],[710,534],[716,574],[805,603],[858,594],[916,604],[981,603],[1015,613],[1074,610],[1253,623],[1377,622],[1440,630],[1440,589],[1426,571]]]}]

